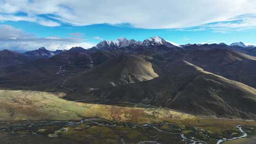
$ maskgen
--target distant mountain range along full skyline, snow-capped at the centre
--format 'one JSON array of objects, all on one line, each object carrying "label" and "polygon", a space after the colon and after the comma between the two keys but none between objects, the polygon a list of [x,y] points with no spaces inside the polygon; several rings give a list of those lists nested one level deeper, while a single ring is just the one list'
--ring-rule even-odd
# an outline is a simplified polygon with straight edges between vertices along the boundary
[{"label": "distant mountain range along full skyline, snow-capped at the centre", "polygon": [[[135,49],[145,49],[145,48],[152,48],[162,46],[163,48],[183,48],[183,49],[190,49],[192,47],[199,48],[199,49],[212,49],[212,48],[225,48],[225,49],[232,49],[238,51],[240,53],[249,54],[252,56],[256,56],[256,47],[254,45],[245,45],[242,42],[239,43],[232,43],[231,45],[226,45],[225,43],[220,44],[187,44],[187,45],[176,45],[172,42],[166,41],[165,39],[154,36],[151,38],[145,39],[143,42],[136,41],[134,39],[126,39],[124,37],[118,38],[116,41],[106,41],[103,40],[96,46],[93,46],[90,49],[84,49],[82,47],[73,47],[69,52],[86,52],[92,50],[115,50],[115,49],[126,49],[127,51],[133,51]],[[198,47],[201,46],[201,47]],[[61,54],[67,50],[56,50],[56,51],[49,51],[45,47],[40,47],[37,50],[28,51],[25,53],[18,53],[14,51],[3,50],[0,51],[0,67],[5,67],[9,65],[15,65],[19,63],[26,63],[28,61],[37,60],[37,59],[48,59],[53,57],[56,54]],[[8,53],[7,53],[8,52]]]}]

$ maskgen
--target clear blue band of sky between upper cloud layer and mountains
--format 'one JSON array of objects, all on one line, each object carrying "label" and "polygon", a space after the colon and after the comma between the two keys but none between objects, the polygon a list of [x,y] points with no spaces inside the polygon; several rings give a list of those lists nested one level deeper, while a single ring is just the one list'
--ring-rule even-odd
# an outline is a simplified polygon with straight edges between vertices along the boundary
[{"label": "clear blue band of sky between upper cloud layer and mountains", "polygon": [[[109,24],[97,24],[91,26],[71,26],[62,24],[58,27],[46,27],[37,23],[18,21],[2,22],[23,29],[29,34],[37,37],[70,37],[72,33],[81,33],[87,42],[98,43],[102,39],[116,40],[119,37],[143,41],[152,36],[160,36],[166,40],[178,44],[188,43],[220,43],[227,44],[242,41],[245,43],[256,43],[256,30],[229,30],[225,32],[215,32],[211,29],[200,30],[201,27],[183,29],[143,29],[128,26],[113,26]],[[199,29],[199,30],[198,30]],[[99,37],[98,39],[96,37]]]}]

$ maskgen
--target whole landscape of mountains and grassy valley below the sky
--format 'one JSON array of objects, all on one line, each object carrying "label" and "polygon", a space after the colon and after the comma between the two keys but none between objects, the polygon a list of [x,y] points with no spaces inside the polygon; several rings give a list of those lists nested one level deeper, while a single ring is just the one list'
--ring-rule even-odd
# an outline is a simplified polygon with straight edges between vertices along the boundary
[{"label": "whole landscape of mountains and grassy valley below the sky", "polygon": [[253,144],[256,57],[234,48],[152,37],[26,53],[0,69],[0,143]]}]

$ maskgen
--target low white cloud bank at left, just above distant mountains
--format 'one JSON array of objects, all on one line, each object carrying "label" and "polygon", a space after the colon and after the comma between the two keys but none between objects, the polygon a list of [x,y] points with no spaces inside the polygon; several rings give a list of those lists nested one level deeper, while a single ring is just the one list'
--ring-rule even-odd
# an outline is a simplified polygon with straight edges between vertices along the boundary
[{"label": "low white cloud bank at left, just above distant mountains", "polygon": [[27,34],[22,29],[9,25],[0,25],[0,49],[9,49],[17,51],[34,50],[38,47],[46,47],[49,50],[70,49],[73,46],[82,46],[91,48],[95,44],[85,42],[81,37],[57,37],[49,36],[38,38]]}]

